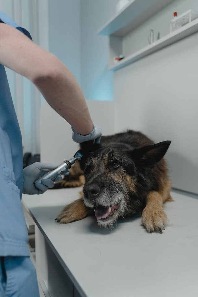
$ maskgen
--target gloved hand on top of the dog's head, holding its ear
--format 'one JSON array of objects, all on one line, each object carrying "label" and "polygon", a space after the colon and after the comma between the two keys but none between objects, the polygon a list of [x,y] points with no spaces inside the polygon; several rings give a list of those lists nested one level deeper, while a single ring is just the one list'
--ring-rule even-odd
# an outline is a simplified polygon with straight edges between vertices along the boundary
[{"label": "gloved hand on top of the dog's head, holding its ear", "polygon": [[88,135],[81,135],[74,131],[71,127],[72,139],[77,143],[82,143],[89,140],[95,140],[95,143],[100,143],[101,135],[102,135],[102,128],[100,126],[94,125],[92,132]]}]

